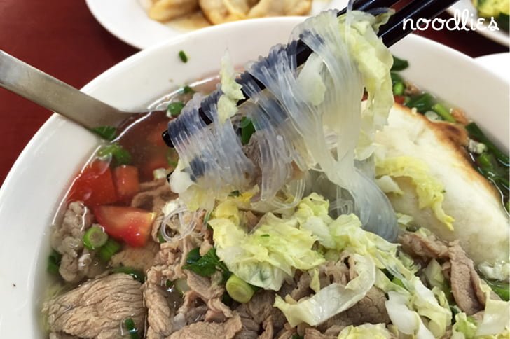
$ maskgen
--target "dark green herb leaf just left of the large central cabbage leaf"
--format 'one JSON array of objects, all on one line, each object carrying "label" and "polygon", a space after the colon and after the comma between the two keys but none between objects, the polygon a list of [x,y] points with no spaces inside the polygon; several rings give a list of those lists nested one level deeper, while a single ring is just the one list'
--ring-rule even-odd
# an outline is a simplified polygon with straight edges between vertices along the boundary
[{"label": "dark green herb leaf just left of the large central cabbage leaf", "polygon": [[225,281],[230,277],[227,266],[216,256],[216,249],[214,248],[209,249],[205,256],[200,256],[200,248],[192,249],[186,257],[186,265],[182,268],[191,270],[202,277],[210,277],[216,271],[222,272]]}]

